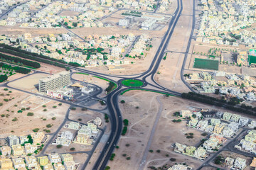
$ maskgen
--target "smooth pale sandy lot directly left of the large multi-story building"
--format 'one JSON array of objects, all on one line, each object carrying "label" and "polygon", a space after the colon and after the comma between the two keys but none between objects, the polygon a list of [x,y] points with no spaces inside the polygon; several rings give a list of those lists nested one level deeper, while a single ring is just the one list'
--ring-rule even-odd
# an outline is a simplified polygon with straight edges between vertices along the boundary
[{"label": "smooth pale sandy lot directly left of the large multi-story building", "polygon": [[9,86],[22,90],[38,91],[36,86],[38,85],[39,80],[45,77],[48,77],[48,74],[32,74],[31,76],[11,82]]}]

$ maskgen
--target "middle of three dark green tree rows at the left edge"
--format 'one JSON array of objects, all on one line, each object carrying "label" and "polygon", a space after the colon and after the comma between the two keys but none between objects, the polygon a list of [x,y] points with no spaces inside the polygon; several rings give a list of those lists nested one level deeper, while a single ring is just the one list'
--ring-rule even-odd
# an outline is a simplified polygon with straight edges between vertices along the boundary
[{"label": "middle of three dark green tree rows at the left edge", "polygon": [[[0,48],[0,52],[5,52],[5,50]],[[18,57],[11,57],[9,55],[4,55],[2,53],[0,53],[0,58],[1,58],[1,60],[4,59],[4,60],[9,60],[9,61],[15,62],[15,63],[21,63],[23,65],[34,67],[36,69],[41,67],[41,65],[38,62],[32,62],[32,61],[29,61],[29,60],[23,60],[23,59],[18,58]]]}]

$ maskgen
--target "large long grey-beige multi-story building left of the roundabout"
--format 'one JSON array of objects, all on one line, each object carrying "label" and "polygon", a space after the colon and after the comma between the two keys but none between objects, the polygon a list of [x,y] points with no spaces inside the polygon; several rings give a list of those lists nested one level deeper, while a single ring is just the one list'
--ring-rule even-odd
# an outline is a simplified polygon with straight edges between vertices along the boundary
[{"label": "large long grey-beige multi-story building left of the roundabout", "polygon": [[39,91],[46,93],[48,90],[59,89],[70,84],[70,72],[64,71],[39,80]]}]

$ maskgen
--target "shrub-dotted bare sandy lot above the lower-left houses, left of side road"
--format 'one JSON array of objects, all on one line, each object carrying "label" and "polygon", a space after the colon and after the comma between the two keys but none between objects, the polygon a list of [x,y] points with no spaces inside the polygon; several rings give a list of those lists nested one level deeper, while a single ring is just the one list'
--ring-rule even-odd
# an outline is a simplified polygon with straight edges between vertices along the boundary
[{"label": "shrub-dotted bare sandy lot above the lower-left houses, left of side road", "polygon": [[[69,107],[66,104],[58,106],[58,102],[55,101],[48,101],[48,103],[42,101],[43,105],[46,105],[44,108],[41,103],[31,101],[28,98],[28,94],[11,89],[9,89],[11,91],[9,93],[9,91],[4,91],[3,88],[1,88],[1,91],[3,96],[1,96],[0,102],[3,103],[3,106],[0,107],[0,124],[2,125],[0,137],[6,137],[11,134],[28,135],[35,128],[39,128],[40,131],[48,129],[50,132],[54,132],[58,125],[63,122],[64,115]],[[4,98],[11,99],[11,101],[6,102]],[[35,100],[42,99],[35,98]],[[29,106],[28,103],[30,104]],[[31,109],[18,113],[18,111],[21,111],[21,108],[28,108],[30,106]],[[57,106],[57,108],[53,108],[53,106]],[[47,111],[43,111],[43,109]],[[33,113],[33,116],[28,116],[27,113],[29,112]],[[52,120],[53,117],[56,119]],[[15,118],[17,119],[16,121],[14,121]],[[52,127],[46,128],[48,124],[52,125]],[[12,130],[14,132],[11,132]]]}]

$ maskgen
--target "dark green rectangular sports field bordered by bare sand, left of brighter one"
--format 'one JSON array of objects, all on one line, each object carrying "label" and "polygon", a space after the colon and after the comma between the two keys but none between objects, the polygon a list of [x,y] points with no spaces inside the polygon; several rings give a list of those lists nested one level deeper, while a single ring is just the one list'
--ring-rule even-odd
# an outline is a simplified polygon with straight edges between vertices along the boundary
[{"label": "dark green rectangular sports field bordered by bare sand, left of brighter one", "polygon": [[217,60],[207,60],[207,59],[195,58],[195,62],[194,62],[193,67],[197,68],[197,69],[218,70],[218,61]]}]

